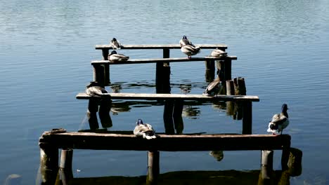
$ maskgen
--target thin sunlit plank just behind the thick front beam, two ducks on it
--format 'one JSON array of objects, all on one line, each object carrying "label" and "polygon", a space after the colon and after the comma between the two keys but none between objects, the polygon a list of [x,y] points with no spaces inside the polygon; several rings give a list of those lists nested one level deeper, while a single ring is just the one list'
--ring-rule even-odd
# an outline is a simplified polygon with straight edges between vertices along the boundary
[{"label": "thin sunlit plank just behind the thick front beam, two ducks on it", "polygon": [[[217,97],[209,97],[207,95],[185,95],[185,94],[148,94],[148,93],[108,93],[112,100],[203,100],[203,101],[250,101],[259,102],[258,96],[250,95],[218,95]],[[91,97],[86,93],[78,93],[78,100],[89,100]],[[93,97],[98,98],[98,97]]]}]

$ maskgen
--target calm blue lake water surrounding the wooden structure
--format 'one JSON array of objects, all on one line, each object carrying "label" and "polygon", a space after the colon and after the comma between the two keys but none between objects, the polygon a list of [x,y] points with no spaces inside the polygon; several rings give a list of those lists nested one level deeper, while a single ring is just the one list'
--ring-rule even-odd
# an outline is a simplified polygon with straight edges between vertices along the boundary
[{"label": "calm blue lake water surrounding the wooden structure", "polygon": [[[243,76],[253,103],[254,134],[266,133],[273,114],[287,103],[292,147],[302,150],[302,174],[290,184],[329,184],[329,1],[1,1],[0,6],[0,184],[10,174],[21,184],[39,177],[39,137],[52,128],[88,128],[84,100],[92,80],[96,44],[116,37],[123,44],[225,43],[236,55],[232,76]],[[162,56],[162,50],[121,50],[131,58]],[[198,55],[209,55],[202,50]],[[179,50],[172,57],[183,57]],[[191,94],[207,86],[203,62],[173,63],[172,93],[190,84]],[[111,67],[121,93],[155,93],[155,64]],[[111,90],[110,87],[107,87]],[[132,130],[137,118],[164,132],[162,106],[132,106],[112,115],[108,130]],[[185,107],[188,108],[188,107]],[[241,121],[212,105],[189,107],[183,132],[238,132]],[[259,151],[162,152],[160,172],[259,170]],[[247,160],[246,160],[247,158]],[[280,170],[280,151],[273,167]],[[145,175],[146,152],[75,151],[74,177]]]}]

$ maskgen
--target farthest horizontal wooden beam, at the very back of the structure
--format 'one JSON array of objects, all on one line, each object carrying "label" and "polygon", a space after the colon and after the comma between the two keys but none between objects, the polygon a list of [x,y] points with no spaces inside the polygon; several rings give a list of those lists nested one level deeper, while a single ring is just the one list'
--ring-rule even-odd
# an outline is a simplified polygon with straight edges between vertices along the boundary
[{"label": "farthest horizontal wooden beam, at the very back of the structure", "polygon": [[[221,50],[227,49],[226,44],[195,44],[195,46],[199,46],[202,49],[214,49],[219,48]],[[112,49],[110,44],[103,44],[103,45],[96,45],[96,50],[103,50],[103,49]],[[127,44],[122,45],[121,49],[126,50],[141,50],[141,49],[180,49],[181,46],[179,44],[143,44],[143,45],[137,45],[137,44]]]}]

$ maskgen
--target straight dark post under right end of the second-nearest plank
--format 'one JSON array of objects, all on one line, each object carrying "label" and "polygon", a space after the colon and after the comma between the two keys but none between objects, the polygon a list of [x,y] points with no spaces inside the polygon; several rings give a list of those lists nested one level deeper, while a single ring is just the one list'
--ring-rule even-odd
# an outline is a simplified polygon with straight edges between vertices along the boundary
[{"label": "straight dark post under right end of the second-nearest plank", "polygon": [[243,102],[243,135],[252,134],[252,102]]}]

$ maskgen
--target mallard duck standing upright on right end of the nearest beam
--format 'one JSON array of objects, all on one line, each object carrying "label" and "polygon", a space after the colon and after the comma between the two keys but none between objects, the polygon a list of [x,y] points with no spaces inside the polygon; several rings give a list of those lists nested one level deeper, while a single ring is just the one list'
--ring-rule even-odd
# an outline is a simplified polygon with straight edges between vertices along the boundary
[{"label": "mallard duck standing upright on right end of the nearest beam", "polygon": [[273,135],[277,135],[278,132],[281,132],[282,135],[283,129],[289,125],[287,104],[283,104],[281,109],[280,114],[274,114],[272,121],[269,123],[269,129],[267,129],[267,132],[272,132]]}]

